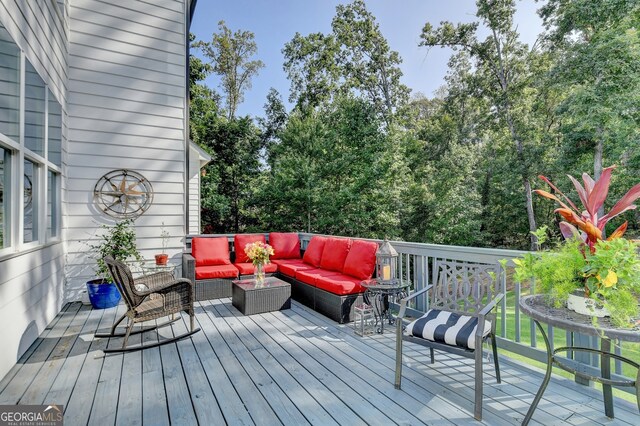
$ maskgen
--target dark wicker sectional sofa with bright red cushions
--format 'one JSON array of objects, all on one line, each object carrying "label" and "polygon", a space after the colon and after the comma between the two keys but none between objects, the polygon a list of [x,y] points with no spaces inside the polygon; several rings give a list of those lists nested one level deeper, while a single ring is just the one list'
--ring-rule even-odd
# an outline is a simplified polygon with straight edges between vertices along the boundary
[{"label": "dark wicker sectional sofa with bright red cushions", "polygon": [[[233,250],[227,237],[192,238],[182,271],[195,282],[196,300],[231,297],[231,282],[253,274],[244,246],[254,241],[264,242],[264,234],[236,234]],[[304,255],[297,233],[272,232],[268,242],[274,255],[265,272],[289,282],[293,299],[339,323],[351,321],[364,293],[360,283],[375,269],[375,242],[314,236]]]}]

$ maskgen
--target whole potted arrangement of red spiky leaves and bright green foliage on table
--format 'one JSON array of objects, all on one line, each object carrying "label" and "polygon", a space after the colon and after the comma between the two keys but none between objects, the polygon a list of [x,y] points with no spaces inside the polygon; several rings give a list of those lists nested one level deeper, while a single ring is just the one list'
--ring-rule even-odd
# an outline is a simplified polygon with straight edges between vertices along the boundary
[{"label": "whole potted arrangement of red spiky leaves and bright green foliage on table", "polygon": [[[515,259],[515,278],[519,281],[535,278],[536,289],[549,296],[556,306],[571,299],[569,307],[574,308],[573,295],[577,293],[585,298],[587,311],[581,313],[610,316],[613,324],[629,327],[639,314],[638,245],[623,238],[627,222],[606,238],[604,231],[611,219],[636,208],[632,203],[640,197],[640,184],[631,188],[607,214],[599,216],[598,211],[607,198],[613,169],[604,169],[598,180],[593,180],[585,173],[584,186],[569,176],[583,210],[578,209],[576,203],[549,179],[540,176],[554,193],[544,190],[534,192],[560,204],[556,213],[564,218],[560,230],[565,241],[551,250],[529,253],[521,259]],[[542,238],[545,233],[545,229],[540,229],[537,234]]]}]

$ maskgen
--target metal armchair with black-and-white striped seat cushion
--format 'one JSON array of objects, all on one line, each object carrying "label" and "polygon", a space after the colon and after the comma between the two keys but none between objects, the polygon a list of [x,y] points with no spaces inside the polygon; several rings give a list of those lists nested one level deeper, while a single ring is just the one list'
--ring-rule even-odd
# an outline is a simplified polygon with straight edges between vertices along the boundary
[{"label": "metal armchair with black-and-white striped seat cushion", "polygon": [[[504,297],[501,277],[502,268],[498,264],[436,261],[434,284],[400,302],[396,321],[396,389],[400,389],[402,380],[403,341],[428,347],[432,364],[434,349],[471,358],[475,361],[473,416],[482,420],[482,344],[486,339],[491,340],[496,381],[500,383],[493,310]],[[409,325],[403,324],[409,301],[425,293],[431,309]]]}]

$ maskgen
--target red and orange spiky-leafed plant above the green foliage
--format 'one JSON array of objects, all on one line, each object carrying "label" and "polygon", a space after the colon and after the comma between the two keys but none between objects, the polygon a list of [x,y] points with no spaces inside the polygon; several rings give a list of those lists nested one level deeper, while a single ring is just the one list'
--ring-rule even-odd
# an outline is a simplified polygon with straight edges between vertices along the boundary
[{"label": "red and orange spiky-leafed plant above the green foliage", "polygon": [[[602,171],[602,175],[597,181],[594,181],[591,176],[583,173],[582,180],[584,186],[578,182],[574,177],[569,176],[571,182],[578,192],[578,197],[584,206],[584,210],[580,211],[573,201],[571,201],[566,195],[562,193],[555,185],[551,183],[549,179],[544,176],[539,176],[540,179],[545,181],[561,198],[551,194],[547,191],[536,189],[534,192],[545,198],[557,201],[561,208],[555,210],[560,214],[565,221],[560,223],[560,231],[562,235],[569,239],[578,235],[582,236],[583,241],[589,246],[591,253],[595,251],[595,244],[602,239],[602,233],[604,227],[611,219],[618,216],[627,210],[635,209],[636,206],[632,204],[640,197],[640,183],[631,188],[613,208],[602,217],[598,217],[598,210],[604,205],[604,201],[607,198],[609,192],[609,184],[611,183],[611,172],[615,169],[615,166],[607,167]],[[563,201],[566,201],[566,203]],[[582,231],[580,234],[578,231]],[[627,222],[625,221],[620,225],[607,240],[613,240],[621,237],[627,230]]]}]

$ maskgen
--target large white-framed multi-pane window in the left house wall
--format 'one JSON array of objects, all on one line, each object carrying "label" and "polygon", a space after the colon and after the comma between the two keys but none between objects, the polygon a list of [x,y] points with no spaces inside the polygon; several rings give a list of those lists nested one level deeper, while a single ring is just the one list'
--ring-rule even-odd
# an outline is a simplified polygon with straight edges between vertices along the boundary
[{"label": "large white-framed multi-pane window in the left house wall", "polygon": [[62,106],[0,24],[0,255],[60,237]]}]

